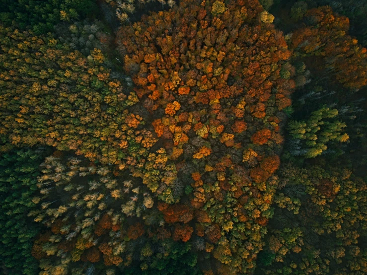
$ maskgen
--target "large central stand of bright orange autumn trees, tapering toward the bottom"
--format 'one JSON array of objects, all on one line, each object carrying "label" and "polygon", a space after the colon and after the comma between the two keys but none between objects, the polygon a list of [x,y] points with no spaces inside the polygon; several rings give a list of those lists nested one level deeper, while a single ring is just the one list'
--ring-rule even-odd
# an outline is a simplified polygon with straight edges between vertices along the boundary
[{"label": "large central stand of bright orange autumn trees, tapering toward the bottom", "polygon": [[[293,75],[281,74],[291,52],[273,19],[257,0],[187,0],[117,34],[165,150],[142,177],[166,204],[185,192],[190,207],[206,212],[191,221],[192,236],[205,238],[219,273],[253,269],[272,215],[280,111],[295,87]],[[159,178],[160,163],[166,176]],[[174,208],[160,209],[167,216]]]}]

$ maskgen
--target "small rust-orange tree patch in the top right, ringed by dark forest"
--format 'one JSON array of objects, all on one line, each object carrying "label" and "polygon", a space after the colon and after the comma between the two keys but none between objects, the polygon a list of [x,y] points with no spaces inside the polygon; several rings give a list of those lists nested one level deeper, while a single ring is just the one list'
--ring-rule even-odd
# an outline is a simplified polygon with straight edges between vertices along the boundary
[{"label": "small rust-orange tree patch in the top right, ringed by dark forest", "polygon": [[330,6],[309,9],[307,24],[292,34],[291,47],[301,55],[319,55],[326,68],[335,71],[345,87],[360,89],[367,84],[367,49],[348,35],[349,19]]}]

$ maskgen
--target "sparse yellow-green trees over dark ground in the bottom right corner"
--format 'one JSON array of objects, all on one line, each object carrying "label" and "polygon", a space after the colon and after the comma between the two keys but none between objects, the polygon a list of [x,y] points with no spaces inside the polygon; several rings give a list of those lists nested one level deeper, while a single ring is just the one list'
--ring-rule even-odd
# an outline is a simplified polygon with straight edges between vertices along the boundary
[{"label": "sparse yellow-green trees over dark ground in the bottom right corner", "polygon": [[[354,274],[356,268],[365,273],[366,255],[361,253],[359,236],[366,228],[366,182],[348,169],[328,164],[305,163],[300,168],[287,163],[278,174],[281,192],[292,197],[287,200],[280,193],[275,202],[281,208],[290,206],[288,210],[296,203],[299,210],[293,214],[275,210],[274,223],[268,225],[265,255],[259,255],[255,274]],[[304,192],[289,192],[296,187]]]}]

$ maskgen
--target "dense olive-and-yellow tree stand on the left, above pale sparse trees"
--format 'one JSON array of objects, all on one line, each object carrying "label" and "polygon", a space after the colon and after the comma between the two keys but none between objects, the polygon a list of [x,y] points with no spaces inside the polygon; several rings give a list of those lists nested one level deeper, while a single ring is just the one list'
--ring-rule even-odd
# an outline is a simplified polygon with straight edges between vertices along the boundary
[{"label": "dense olive-and-yellow tree stand on the left, above pale sparse trees", "polygon": [[4,27],[0,40],[2,151],[38,143],[104,164],[147,155],[156,139],[136,130],[143,118],[126,108],[138,98],[101,66],[101,50],[85,58],[51,36]]}]

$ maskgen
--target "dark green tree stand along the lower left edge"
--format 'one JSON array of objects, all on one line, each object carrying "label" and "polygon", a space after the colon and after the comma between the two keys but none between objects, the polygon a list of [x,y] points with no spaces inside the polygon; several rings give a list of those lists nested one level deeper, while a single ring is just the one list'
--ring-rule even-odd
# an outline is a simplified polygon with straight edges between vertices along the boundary
[{"label": "dark green tree stand along the lower left edge", "polygon": [[38,269],[31,249],[40,225],[27,213],[36,207],[32,199],[46,151],[14,149],[0,157],[0,263],[8,274],[36,274]]}]

